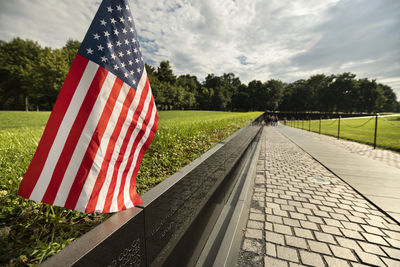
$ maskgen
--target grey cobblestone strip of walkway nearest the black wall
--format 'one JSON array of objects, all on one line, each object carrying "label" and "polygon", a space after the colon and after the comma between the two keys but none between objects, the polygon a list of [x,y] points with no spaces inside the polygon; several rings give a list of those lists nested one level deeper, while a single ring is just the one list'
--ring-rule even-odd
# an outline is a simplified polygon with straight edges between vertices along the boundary
[{"label": "grey cobblestone strip of walkway nearest the black wall", "polygon": [[255,179],[238,266],[400,266],[400,226],[273,127]]}]

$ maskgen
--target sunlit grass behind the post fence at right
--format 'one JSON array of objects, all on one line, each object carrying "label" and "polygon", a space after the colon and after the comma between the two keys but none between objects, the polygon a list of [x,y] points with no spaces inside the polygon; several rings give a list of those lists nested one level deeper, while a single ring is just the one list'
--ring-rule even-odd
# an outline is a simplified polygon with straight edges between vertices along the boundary
[{"label": "sunlit grass behind the post fence at right", "polygon": [[[321,134],[338,136],[338,120],[322,120]],[[288,122],[289,126],[319,132],[319,120]],[[369,145],[374,144],[375,118],[341,119],[340,138]],[[377,147],[400,152],[400,115],[379,117]]]}]

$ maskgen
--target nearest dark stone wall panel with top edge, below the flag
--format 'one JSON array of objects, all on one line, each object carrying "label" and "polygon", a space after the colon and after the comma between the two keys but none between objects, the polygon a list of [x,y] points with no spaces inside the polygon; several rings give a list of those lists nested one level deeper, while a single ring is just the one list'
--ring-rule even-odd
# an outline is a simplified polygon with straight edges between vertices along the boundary
[{"label": "nearest dark stone wall panel with top edge, below the flag", "polygon": [[121,211],[44,262],[43,266],[146,266],[144,212]]}]

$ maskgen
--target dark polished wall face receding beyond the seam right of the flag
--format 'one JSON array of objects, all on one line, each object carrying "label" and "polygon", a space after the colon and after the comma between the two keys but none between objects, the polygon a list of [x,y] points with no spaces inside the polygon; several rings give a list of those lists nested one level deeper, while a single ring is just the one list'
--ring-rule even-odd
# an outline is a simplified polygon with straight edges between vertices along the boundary
[{"label": "dark polished wall face receding beyond the seam right of the flag", "polygon": [[[259,130],[260,126],[247,126],[174,186],[145,205],[147,257],[150,266],[162,265],[167,260],[187,229],[196,223],[203,209],[222,209],[224,203],[206,204]],[[225,196],[220,196],[215,201],[225,200]]]}]

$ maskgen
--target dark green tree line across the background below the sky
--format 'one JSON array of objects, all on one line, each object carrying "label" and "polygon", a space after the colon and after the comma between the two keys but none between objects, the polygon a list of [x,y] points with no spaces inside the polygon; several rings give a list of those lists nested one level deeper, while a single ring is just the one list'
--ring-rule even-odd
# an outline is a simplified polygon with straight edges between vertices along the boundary
[{"label": "dark green tree line across the background below the sky", "polygon": [[[60,49],[20,38],[0,41],[0,109],[51,110],[79,46],[74,40]],[[244,84],[233,73],[208,74],[202,82],[177,76],[168,61],[146,70],[159,110],[400,111],[390,86],[349,72]]]}]

